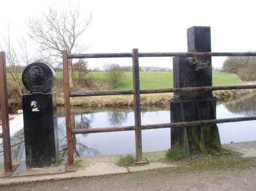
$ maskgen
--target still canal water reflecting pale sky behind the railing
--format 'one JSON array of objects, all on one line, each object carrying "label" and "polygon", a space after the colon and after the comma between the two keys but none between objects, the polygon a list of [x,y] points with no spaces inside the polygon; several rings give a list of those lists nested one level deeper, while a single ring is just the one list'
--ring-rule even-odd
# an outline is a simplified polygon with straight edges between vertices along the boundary
[{"label": "still canal water reflecting pale sky behind the railing", "polygon": [[[219,102],[216,108],[217,118],[236,118],[256,114],[256,95]],[[88,111],[76,108],[72,114],[74,128],[108,128],[111,126],[134,125],[134,112],[129,109],[109,108],[104,111]],[[170,123],[170,108],[148,107],[141,112],[142,125]],[[22,115],[11,121],[12,155],[14,160],[25,160]],[[221,143],[256,140],[255,121],[223,123],[218,125]],[[134,153],[135,135],[130,132],[107,132],[99,134],[76,135],[76,155],[122,155]],[[65,118],[63,108],[58,109],[58,139],[60,155],[67,155]],[[170,128],[142,131],[143,152],[160,151],[170,148]],[[3,160],[3,153],[1,159]]]}]

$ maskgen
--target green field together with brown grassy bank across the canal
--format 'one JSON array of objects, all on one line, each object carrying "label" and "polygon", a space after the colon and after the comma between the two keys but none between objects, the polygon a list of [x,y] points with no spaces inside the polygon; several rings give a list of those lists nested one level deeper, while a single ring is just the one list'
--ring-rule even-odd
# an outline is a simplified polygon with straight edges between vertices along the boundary
[{"label": "green field together with brown grassy bank across the canal", "polygon": [[[92,79],[93,81],[98,81],[93,85],[93,89],[111,89],[110,86],[105,86],[108,84],[108,78],[106,72],[90,72],[86,76],[87,78]],[[62,72],[56,72],[56,86],[53,91],[56,91],[58,94],[57,104],[63,105],[63,89],[61,88],[62,84]],[[10,75],[8,79],[12,81]],[[78,73],[73,73],[73,79],[78,80]],[[21,73],[20,73],[21,80]],[[99,83],[103,82],[103,83]],[[214,86],[225,86],[232,84],[241,84],[243,81],[239,79],[236,74],[223,73],[223,72],[214,72],[213,73],[213,85]],[[13,86],[13,85],[12,85]],[[11,88],[10,86],[9,88]],[[154,88],[172,88],[173,87],[173,73],[172,72],[140,72],[140,88],[141,89],[154,89]],[[124,77],[122,83],[116,89],[132,89],[132,72],[124,72]],[[13,91],[16,92],[15,86],[13,86]],[[75,86],[72,91],[88,91],[88,88],[85,87],[85,84],[79,84]],[[90,90],[89,90],[90,91]],[[12,91],[10,91],[12,92]],[[26,92],[26,91],[25,91]],[[214,91],[213,95],[216,96],[219,100],[225,98],[237,98],[244,96],[251,92],[251,90],[244,89],[241,91]],[[15,94],[10,94],[10,96]],[[141,105],[147,107],[148,105],[159,105],[159,104],[168,104],[172,98],[172,93],[162,93],[162,94],[150,94],[150,95],[141,95]],[[10,105],[14,105],[13,112],[20,109],[20,99],[17,97],[10,97]],[[118,96],[93,96],[93,97],[80,97],[72,98],[70,100],[70,105],[72,106],[83,106],[88,108],[95,107],[127,107],[132,106],[133,96],[132,95],[118,95]]]}]

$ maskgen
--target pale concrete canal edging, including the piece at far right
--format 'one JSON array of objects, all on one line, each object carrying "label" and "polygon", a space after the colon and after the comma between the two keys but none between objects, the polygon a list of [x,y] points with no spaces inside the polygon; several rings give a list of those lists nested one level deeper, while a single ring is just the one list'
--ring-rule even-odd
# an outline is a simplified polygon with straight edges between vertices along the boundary
[{"label": "pale concrete canal edging, including the piece at far right", "polygon": [[[239,142],[226,144],[225,146],[231,148],[234,151],[242,153],[244,157],[256,157],[256,142]],[[137,165],[132,167],[118,166],[116,163],[119,157],[120,155],[103,157],[82,157],[79,158],[76,172],[66,172],[41,176],[18,176],[15,178],[0,178],[0,185],[44,180],[63,180],[67,178],[92,177],[106,174],[124,174],[127,172],[147,171],[150,169],[163,169],[175,166],[172,164],[165,164],[164,162],[159,162],[165,157],[165,151],[143,153],[143,157],[147,158],[149,164]],[[59,168],[63,169],[64,167],[62,166]],[[59,171],[63,172],[61,170]]]}]

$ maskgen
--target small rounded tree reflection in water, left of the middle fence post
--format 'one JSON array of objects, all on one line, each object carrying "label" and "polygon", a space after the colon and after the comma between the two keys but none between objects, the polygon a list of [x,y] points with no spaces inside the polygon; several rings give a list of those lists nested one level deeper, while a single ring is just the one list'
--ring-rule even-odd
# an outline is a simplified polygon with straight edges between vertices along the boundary
[{"label": "small rounded tree reflection in water, left of the middle fence post", "polygon": [[122,125],[126,120],[127,112],[120,112],[118,109],[108,112],[108,122],[111,125]]}]

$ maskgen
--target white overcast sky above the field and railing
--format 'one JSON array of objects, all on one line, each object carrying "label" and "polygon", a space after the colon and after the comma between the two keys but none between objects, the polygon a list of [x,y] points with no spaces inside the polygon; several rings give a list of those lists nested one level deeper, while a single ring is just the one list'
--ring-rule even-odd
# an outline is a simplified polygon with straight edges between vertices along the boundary
[{"label": "white overcast sky above the field and railing", "polygon": [[[39,16],[49,6],[65,9],[79,4],[83,17],[92,11],[92,23],[83,42],[92,47],[85,53],[186,52],[186,29],[211,26],[212,52],[246,52],[256,50],[255,1],[69,1],[26,0],[1,1],[0,23],[11,24],[12,39],[28,33],[26,22]],[[13,37],[14,36],[14,37]],[[33,42],[28,43],[31,54]],[[212,59],[220,68],[225,58]],[[106,63],[131,65],[131,59],[89,59],[90,67]],[[141,66],[172,65],[171,58],[140,58]]]}]

